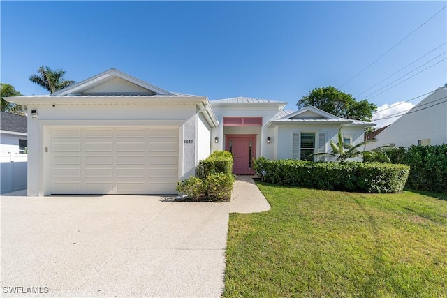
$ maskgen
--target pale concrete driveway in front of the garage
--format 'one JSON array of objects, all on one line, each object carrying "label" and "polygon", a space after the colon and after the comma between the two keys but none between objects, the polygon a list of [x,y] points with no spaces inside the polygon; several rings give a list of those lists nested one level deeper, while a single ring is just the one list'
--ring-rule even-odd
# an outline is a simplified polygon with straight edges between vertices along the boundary
[{"label": "pale concrete driveway in front of the garage", "polygon": [[220,297],[229,211],[154,196],[2,195],[1,295]]}]

